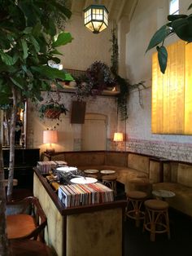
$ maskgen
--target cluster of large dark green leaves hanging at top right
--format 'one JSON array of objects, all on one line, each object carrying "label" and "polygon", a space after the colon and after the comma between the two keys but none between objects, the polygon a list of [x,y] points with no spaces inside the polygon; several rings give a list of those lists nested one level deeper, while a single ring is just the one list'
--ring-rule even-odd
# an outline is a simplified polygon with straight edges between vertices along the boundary
[{"label": "cluster of large dark green leaves hanging at top right", "polygon": [[[192,8],[192,3],[188,10]],[[185,42],[192,42],[192,14],[190,15],[168,15],[168,23],[164,24],[155,32],[146,51],[155,46],[158,51],[159,67],[162,73],[165,72],[168,61],[168,52],[164,47],[164,40],[169,35],[177,34],[177,37]],[[161,44],[161,46],[158,46]]]}]

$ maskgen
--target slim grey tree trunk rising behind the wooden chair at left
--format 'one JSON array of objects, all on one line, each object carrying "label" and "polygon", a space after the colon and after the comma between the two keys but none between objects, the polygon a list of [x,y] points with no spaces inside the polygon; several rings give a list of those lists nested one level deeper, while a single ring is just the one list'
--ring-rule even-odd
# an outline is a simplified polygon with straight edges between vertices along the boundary
[{"label": "slim grey tree trunk rising behind the wooden chair at left", "polygon": [[7,186],[7,200],[11,200],[13,192],[13,176],[15,165],[15,123],[17,113],[17,95],[14,86],[12,87],[13,107],[11,108],[11,129],[10,129],[10,157],[9,157],[9,178]]}]

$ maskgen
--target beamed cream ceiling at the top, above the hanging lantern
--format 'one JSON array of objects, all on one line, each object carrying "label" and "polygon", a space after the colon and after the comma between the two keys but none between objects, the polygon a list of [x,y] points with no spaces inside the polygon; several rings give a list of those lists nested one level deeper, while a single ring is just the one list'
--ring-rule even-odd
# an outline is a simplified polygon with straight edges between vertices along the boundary
[{"label": "beamed cream ceiling at the top, above the hanging lantern", "polygon": [[83,10],[91,4],[102,4],[109,11],[109,20],[118,22],[121,18],[131,20],[138,0],[71,0],[73,14],[82,15]]}]

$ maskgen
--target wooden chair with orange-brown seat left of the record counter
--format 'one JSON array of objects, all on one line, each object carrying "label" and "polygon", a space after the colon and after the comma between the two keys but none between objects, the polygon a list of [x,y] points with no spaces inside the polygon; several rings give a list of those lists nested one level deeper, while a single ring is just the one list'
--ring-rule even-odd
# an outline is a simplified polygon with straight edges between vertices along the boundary
[{"label": "wooden chair with orange-brown seat left of the record counter", "polygon": [[33,239],[44,241],[46,215],[35,196],[21,201],[7,202],[8,239]]}]

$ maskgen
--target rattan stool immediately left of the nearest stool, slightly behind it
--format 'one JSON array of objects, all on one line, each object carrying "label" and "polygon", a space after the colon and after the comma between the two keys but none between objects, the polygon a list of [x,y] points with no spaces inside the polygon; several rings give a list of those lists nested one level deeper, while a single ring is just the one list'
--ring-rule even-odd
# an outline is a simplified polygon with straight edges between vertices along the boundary
[{"label": "rattan stool immediately left of the nearest stool, slightly behind it", "polygon": [[127,200],[128,200],[128,205],[127,205],[127,212],[126,215],[129,218],[135,219],[135,224],[136,227],[139,227],[139,223],[141,219],[144,219],[145,217],[145,212],[142,211],[142,203],[146,199],[146,192],[142,191],[130,191],[127,194]]}]

